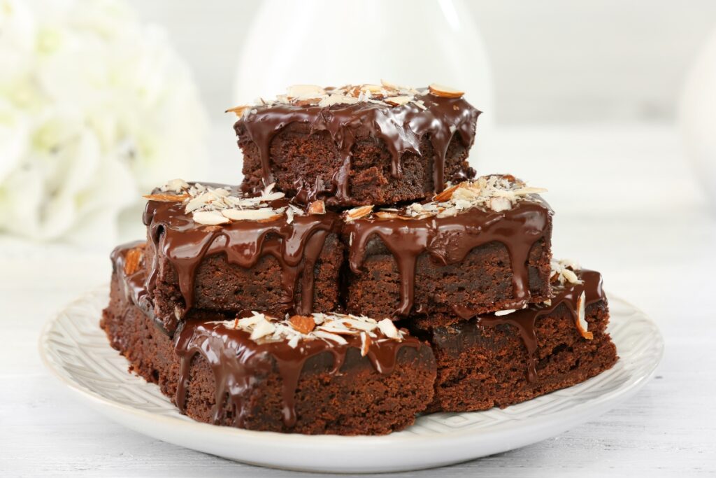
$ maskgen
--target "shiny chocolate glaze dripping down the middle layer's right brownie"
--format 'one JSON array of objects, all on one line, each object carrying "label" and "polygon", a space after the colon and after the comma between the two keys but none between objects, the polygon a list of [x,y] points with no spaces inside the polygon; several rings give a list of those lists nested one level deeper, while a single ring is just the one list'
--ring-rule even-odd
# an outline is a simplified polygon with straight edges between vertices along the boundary
[{"label": "shiny chocolate glaze dripping down the middle layer's right brownie", "polygon": [[[552,211],[543,201],[520,201],[512,209],[495,212],[469,209],[453,217],[424,219],[379,219],[367,216],[344,226],[349,237],[349,265],[361,273],[366,247],[377,236],[390,250],[400,272],[400,306],[393,312],[405,317],[414,309],[420,313],[424,305],[415,305],[415,264],[420,254],[430,254],[442,264],[458,264],[475,247],[497,241],[510,254],[513,271],[514,301],[507,308],[521,308],[530,299],[527,261],[533,244],[549,241]],[[415,307],[414,307],[415,306]],[[477,312],[466,307],[453,307],[467,320]]]}]

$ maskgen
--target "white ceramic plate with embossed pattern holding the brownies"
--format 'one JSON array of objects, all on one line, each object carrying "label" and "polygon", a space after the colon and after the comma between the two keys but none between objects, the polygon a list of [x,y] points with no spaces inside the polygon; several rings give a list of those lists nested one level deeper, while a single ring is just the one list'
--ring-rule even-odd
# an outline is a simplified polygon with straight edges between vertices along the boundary
[{"label": "white ceramic plate with embossed pattern holding the brownies", "polygon": [[440,467],[516,449],[594,419],[634,395],[664,343],[644,312],[609,297],[609,332],[620,360],[577,386],[504,410],[431,414],[387,436],[305,436],[201,424],[179,414],[159,387],[127,373],[99,327],[108,289],[84,295],[47,323],[40,353],[54,376],[112,420],[156,439],[264,467],[393,472]]}]

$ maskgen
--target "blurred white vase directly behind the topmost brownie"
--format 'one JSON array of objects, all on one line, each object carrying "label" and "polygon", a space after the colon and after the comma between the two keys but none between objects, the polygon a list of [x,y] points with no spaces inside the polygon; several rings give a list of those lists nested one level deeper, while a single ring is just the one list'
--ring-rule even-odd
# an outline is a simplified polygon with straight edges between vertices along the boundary
[{"label": "blurred white vase directly behind the topmost brownie", "polygon": [[470,154],[479,168],[478,151],[493,124],[493,87],[482,39],[462,0],[268,0],[248,24],[236,104],[273,98],[296,84],[384,79],[456,87],[485,112]]}]

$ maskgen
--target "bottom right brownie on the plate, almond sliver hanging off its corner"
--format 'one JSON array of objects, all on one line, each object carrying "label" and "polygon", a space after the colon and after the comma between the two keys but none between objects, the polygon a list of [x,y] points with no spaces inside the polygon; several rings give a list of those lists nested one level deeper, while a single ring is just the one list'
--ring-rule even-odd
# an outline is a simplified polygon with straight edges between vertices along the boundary
[{"label": "bottom right brownie on the plate, almond sliver hanging off its corner", "polygon": [[431,411],[504,408],[573,386],[614,365],[601,274],[564,264],[557,268],[561,283],[546,303],[430,331],[437,360]]}]

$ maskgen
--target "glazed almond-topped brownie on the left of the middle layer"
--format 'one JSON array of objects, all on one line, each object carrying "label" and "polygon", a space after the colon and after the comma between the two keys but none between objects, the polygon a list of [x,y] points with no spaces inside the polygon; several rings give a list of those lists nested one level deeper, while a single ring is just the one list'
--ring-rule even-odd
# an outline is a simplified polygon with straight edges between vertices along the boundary
[{"label": "glazed almond-topped brownie on the left of the middle layer", "polygon": [[[163,189],[163,190],[162,190]],[[341,221],[321,201],[246,196],[232,186],[175,181],[147,196],[147,293],[173,331],[192,307],[306,314],[334,310]]]}]

